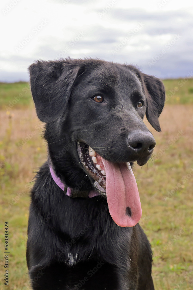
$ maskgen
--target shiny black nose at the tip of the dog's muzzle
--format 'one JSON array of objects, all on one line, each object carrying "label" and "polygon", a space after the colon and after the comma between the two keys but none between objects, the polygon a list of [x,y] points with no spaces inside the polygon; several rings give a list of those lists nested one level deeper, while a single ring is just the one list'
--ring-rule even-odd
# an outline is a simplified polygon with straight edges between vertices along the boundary
[{"label": "shiny black nose at the tip of the dog's muzzle", "polygon": [[128,146],[138,156],[149,155],[155,147],[155,139],[149,131],[137,130],[128,135]]}]

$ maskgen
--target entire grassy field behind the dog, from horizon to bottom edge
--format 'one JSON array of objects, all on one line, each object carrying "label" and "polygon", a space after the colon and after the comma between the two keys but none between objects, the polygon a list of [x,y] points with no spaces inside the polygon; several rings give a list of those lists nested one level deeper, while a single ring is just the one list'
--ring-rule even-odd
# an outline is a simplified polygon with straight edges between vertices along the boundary
[{"label": "entire grassy field behind the dog, from horizon to bottom edge", "polygon": [[[154,253],[156,290],[193,289],[193,79],[164,80],[162,132],[147,165],[135,166],[143,215]],[[22,94],[19,95],[19,94]],[[0,84],[0,289],[29,290],[25,249],[28,207],[36,169],[46,160],[29,85]],[[4,222],[9,222],[9,288],[4,285]]]}]

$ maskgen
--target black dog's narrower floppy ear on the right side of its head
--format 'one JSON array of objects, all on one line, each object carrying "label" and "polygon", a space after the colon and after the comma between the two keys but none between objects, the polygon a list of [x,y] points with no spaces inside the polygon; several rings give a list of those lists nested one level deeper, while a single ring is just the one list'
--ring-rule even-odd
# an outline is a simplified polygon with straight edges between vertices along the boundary
[{"label": "black dog's narrower floppy ear on the right side of its head", "polygon": [[151,75],[141,73],[140,76],[143,81],[144,93],[147,100],[146,117],[153,128],[160,132],[161,128],[158,118],[163,110],[165,102],[164,85],[160,79]]}]

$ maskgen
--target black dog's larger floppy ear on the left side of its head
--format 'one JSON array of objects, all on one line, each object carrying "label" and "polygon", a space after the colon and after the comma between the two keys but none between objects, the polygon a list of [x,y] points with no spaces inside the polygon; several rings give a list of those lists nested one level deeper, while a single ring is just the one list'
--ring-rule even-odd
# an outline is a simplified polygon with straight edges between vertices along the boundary
[{"label": "black dog's larger floppy ear on the left side of its head", "polygon": [[36,113],[42,122],[65,112],[79,69],[80,64],[68,61],[36,61],[29,67]]}]

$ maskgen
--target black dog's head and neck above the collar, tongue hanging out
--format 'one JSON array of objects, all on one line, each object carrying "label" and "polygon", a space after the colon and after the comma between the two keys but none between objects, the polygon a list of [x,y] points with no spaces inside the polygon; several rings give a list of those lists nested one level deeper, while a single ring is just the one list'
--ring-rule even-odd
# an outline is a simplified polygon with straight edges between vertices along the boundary
[{"label": "black dog's head and neck above the collar, tongue hanging out", "polygon": [[135,225],[141,205],[130,163],[144,165],[152,155],[155,140],[143,118],[161,131],[162,82],[133,66],[94,59],[37,61],[30,77],[56,172],[71,187],[86,173],[84,190],[96,186],[113,220]]}]

